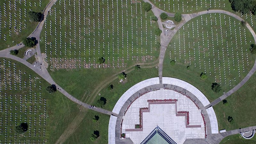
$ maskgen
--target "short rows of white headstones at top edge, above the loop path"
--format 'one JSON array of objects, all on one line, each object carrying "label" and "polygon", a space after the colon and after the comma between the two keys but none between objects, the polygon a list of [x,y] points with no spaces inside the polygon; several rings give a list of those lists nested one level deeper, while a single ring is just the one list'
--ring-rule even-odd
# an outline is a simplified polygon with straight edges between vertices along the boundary
[{"label": "short rows of white headstones at top edge, above the loop path", "polygon": [[[193,4],[194,3],[193,1],[196,2],[196,5]],[[217,1],[217,3],[219,2],[219,4],[216,4],[216,1]],[[183,0],[161,0],[161,1],[157,0],[157,2],[159,3],[160,9],[162,9],[162,8],[164,10],[172,9],[173,12],[176,12],[175,9],[177,9],[178,11],[180,9],[182,9],[182,12],[184,12],[184,11],[189,12],[189,11],[192,11],[192,9],[197,10],[198,7],[201,7],[201,8],[204,7],[203,2],[205,3],[205,8],[225,7],[225,3],[223,5],[220,4],[221,1],[225,1],[225,0],[210,0],[210,1],[208,1],[208,0],[205,0],[205,1],[204,0],[187,0],[187,2],[184,2]],[[168,5],[167,5],[167,2],[168,2]],[[156,4],[156,0],[154,0],[154,3]],[[175,5],[175,4],[177,4],[177,5]],[[184,4],[186,4],[187,7],[184,6]],[[166,9],[165,9],[165,5],[166,5]],[[173,5],[173,7],[172,7],[172,5]],[[180,6],[180,5],[182,5],[182,6]]]}]

